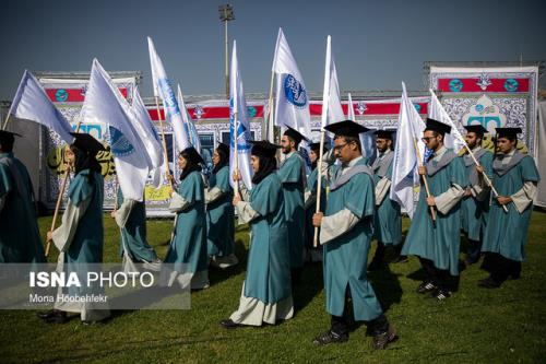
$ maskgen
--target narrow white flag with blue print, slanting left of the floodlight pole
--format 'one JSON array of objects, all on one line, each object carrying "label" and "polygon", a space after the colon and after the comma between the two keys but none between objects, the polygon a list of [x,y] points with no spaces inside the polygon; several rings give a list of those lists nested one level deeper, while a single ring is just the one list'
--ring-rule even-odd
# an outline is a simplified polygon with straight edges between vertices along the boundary
[{"label": "narrow white flag with blue print, slanting left of the floodlight pole", "polygon": [[183,151],[191,145],[188,138],[188,131],[185,127],[178,102],[170,86],[170,82],[163,67],[163,62],[155,51],[154,42],[147,37],[147,47],[150,50],[150,63],[152,66],[152,80],[154,83],[154,96],[163,99],[163,107],[167,119],[173,126],[175,142],[178,151]]}]

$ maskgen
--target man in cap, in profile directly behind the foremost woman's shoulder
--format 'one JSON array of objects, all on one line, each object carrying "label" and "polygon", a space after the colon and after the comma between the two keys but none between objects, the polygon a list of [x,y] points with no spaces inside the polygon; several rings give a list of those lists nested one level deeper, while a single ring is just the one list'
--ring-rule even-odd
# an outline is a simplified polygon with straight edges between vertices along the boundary
[{"label": "man in cap, in profile directly behind the foremost woman's shoulder", "polygon": [[[285,160],[277,171],[283,184],[284,210],[290,246],[292,282],[298,283],[304,269],[305,247],[305,208],[304,191],[306,188],[305,161],[298,152],[298,145],[306,139],[295,129],[288,127],[281,139]],[[307,139],[306,139],[307,140]]]}]

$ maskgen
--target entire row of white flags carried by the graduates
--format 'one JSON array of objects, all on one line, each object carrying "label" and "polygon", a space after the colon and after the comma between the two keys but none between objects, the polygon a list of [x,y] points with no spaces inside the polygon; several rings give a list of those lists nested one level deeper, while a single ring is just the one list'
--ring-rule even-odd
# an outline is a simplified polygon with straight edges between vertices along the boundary
[{"label": "entire row of white flags carried by the graduates", "polygon": [[[154,97],[157,105],[158,101],[162,101],[166,121],[173,127],[176,149],[181,151],[193,146],[200,152],[201,143],[197,128],[186,108],[181,87],[178,84],[177,94],[175,94],[152,38],[147,38],[147,44]],[[310,136],[309,96],[282,28],[278,30],[275,45],[272,77],[276,78],[276,102],[274,113],[270,110],[269,122],[283,128],[292,127],[305,136]],[[235,40],[229,81],[230,173],[238,168],[242,183],[251,189],[249,143],[251,133]],[[397,201],[412,216],[413,189],[418,185],[419,179],[416,171],[418,161],[415,149],[419,150],[419,155],[425,155],[425,148],[420,140],[425,124],[410,101],[404,83],[402,90],[390,198]],[[463,137],[435,93],[432,91],[430,93],[430,117],[453,128],[453,134],[447,136],[446,144],[458,151],[464,145]],[[348,97],[349,105],[353,105],[351,94]],[[161,136],[155,131],[138,87],[134,87],[131,98],[132,103],[129,104],[98,60],[93,60],[81,120],[100,121],[108,125],[119,186],[124,197],[142,201],[149,175],[152,176],[153,185],[158,187],[163,180],[162,175],[169,172],[165,143],[162,143]],[[28,71],[23,74],[9,113],[17,118],[33,120],[50,128],[67,143],[72,141],[70,136],[72,127]],[[271,113],[273,113],[273,118]],[[346,118],[355,120],[355,114],[353,107],[348,108],[347,116],[343,113],[331,37],[328,36],[321,126],[324,128],[329,124]],[[373,157],[376,148],[372,133],[363,133],[360,141],[365,155]]]}]

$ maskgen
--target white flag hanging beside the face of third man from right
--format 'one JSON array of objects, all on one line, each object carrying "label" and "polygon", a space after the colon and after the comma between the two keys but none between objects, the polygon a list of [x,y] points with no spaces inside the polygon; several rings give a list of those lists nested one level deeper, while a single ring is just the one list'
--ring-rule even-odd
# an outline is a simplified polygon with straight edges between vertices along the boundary
[{"label": "white flag hanging beside the face of third man from right", "polygon": [[394,144],[394,160],[392,165],[392,179],[390,198],[400,203],[410,218],[414,213],[414,186],[419,184],[417,173],[417,155],[415,153],[415,139],[418,141],[419,153],[423,156],[425,145],[420,138],[425,130],[425,122],[407,97],[406,86],[402,82],[402,99],[400,103],[399,126],[396,143]]}]

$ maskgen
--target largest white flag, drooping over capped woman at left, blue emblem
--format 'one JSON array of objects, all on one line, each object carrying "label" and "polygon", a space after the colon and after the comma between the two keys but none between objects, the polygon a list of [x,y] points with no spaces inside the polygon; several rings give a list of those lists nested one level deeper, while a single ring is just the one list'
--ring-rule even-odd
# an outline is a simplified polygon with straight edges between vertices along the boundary
[{"label": "largest white flag, drooping over capped woman at left, blue emblem", "polygon": [[110,151],[114,154],[116,175],[123,197],[142,201],[152,162],[131,124],[134,119],[131,114],[129,103],[114,85],[100,63],[94,59],[82,107],[83,121],[108,125]]}]

